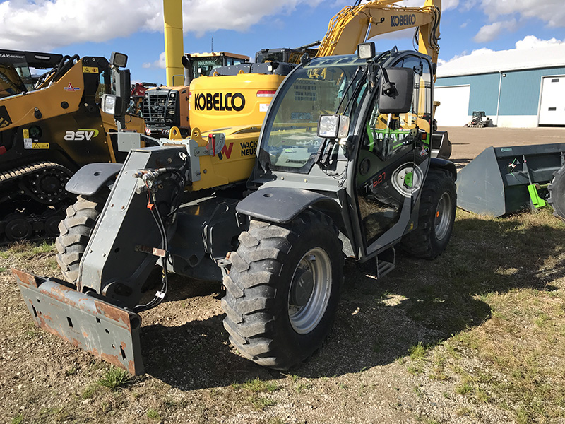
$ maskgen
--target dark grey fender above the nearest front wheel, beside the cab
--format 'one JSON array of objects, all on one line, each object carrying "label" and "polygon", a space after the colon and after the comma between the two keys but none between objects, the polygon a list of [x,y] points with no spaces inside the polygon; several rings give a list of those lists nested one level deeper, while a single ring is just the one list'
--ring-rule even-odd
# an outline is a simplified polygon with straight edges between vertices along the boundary
[{"label": "dark grey fender above the nearest front wheel, beside the cab", "polygon": [[253,218],[285,224],[314,205],[330,211],[339,209],[335,200],[323,194],[289,187],[270,187],[249,194],[237,204],[236,210]]}]

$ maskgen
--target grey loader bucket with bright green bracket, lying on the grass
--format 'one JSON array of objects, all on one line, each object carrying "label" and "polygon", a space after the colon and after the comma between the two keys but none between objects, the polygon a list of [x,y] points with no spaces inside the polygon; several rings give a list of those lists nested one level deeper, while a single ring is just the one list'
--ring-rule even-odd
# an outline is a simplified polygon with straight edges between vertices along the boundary
[{"label": "grey loader bucket with bright green bracket, lying on the grass", "polygon": [[457,206],[492,216],[544,206],[564,152],[565,143],[484,149],[458,172]]}]

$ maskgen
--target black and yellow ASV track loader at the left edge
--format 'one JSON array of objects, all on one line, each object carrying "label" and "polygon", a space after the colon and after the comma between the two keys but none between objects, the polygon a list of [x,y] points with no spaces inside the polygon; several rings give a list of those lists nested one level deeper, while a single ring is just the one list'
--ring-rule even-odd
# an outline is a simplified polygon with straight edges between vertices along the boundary
[{"label": "black and yellow ASV track loader at the left edge", "polygon": [[[112,57],[125,66],[125,55]],[[0,50],[0,81],[8,81],[0,89],[0,244],[57,237],[76,200],[65,190],[73,173],[126,158],[117,124],[100,112],[102,95],[114,90],[113,73],[129,75],[117,68],[104,57]],[[30,69],[44,73],[34,78]],[[143,131],[143,119],[123,118],[122,129]]]}]

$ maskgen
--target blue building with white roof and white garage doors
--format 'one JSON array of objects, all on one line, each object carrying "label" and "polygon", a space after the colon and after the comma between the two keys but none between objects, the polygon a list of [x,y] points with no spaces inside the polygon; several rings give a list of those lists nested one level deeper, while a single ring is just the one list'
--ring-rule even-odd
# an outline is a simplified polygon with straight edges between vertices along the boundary
[{"label": "blue building with white roof and white garage doors", "polygon": [[472,54],[438,66],[439,126],[484,111],[496,126],[565,126],[565,44]]}]

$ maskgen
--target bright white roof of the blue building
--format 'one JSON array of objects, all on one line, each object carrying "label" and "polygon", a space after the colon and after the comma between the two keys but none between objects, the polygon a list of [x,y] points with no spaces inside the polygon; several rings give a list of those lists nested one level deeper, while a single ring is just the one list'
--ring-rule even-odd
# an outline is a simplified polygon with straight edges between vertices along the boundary
[{"label": "bright white roof of the blue building", "polygon": [[475,50],[467,56],[439,65],[437,76],[441,78],[556,66],[565,66],[565,43],[499,52],[489,49]]}]

